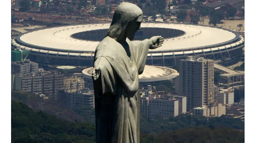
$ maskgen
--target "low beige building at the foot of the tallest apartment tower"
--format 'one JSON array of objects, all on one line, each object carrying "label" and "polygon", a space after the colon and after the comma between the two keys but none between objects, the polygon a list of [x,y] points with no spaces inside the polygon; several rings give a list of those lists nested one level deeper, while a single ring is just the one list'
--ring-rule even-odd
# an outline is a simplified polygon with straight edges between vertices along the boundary
[{"label": "low beige building at the foot of the tallest apartment tower", "polygon": [[226,115],[226,105],[221,103],[211,103],[208,106],[201,106],[193,108],[193,115],[200,115],[205,117],[220,117]]}]

